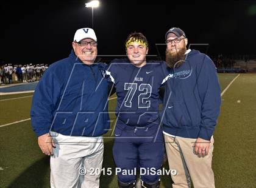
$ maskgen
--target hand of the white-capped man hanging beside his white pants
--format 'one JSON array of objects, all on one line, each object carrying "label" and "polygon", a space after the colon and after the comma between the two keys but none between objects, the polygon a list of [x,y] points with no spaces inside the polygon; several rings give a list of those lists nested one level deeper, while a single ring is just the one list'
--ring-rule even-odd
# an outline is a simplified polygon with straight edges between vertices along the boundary
[{"label": "hand of the white-capped man hanging beside his white pants", "polygon": [[55,147],[52,136],[48,133],[38,137],[38,146],[45,155],[53,155],[53,147]]}]

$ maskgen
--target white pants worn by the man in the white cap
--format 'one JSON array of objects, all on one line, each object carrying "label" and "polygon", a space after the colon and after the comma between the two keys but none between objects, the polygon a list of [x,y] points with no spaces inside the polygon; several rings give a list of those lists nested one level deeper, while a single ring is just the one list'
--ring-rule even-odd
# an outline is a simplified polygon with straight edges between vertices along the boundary
[{"label": "white pants worn by the man in the white cap", "polygon": [[102,137],[57,134],[53,138],[56,147],[50,160],[51,187],[99,187],[104,151]]}]

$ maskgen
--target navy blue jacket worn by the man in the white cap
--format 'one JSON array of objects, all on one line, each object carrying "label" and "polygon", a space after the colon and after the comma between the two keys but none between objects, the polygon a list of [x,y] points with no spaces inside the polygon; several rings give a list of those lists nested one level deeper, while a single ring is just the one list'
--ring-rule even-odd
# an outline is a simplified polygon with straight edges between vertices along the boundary
[{"label": "navy blue jacket worn by the man in the white cap", "polygon": [[50,130],[70,136],[101,136],[109,129],[108,84],[101,69],[86,65],[71,51],[51,64],[40,79],[30,111],[37,136]]}]

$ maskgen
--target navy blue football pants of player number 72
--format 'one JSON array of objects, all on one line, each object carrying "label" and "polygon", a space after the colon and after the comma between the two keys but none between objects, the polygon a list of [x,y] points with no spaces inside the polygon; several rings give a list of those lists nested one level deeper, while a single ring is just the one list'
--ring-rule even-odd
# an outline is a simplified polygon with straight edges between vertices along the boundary
[{"label": "navy blue football pants of player number 72", "polygon": [[157,181],[160,176],[154,172],[162,166],[163,154],[162,127],[159,125],[130,127],[116,124],[113,156],[117,169],[121,169],[118,173],[118,181],[123,183],[135,181],[135,168],[137,173],[142,173],[140,174],[142,181],[146,183]]}]

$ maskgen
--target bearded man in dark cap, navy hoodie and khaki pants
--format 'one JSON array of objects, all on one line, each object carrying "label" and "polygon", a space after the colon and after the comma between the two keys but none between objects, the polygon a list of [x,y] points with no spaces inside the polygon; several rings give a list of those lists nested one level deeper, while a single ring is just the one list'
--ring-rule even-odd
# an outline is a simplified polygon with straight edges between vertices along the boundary
[{"label": "bearded man in dark cap, navy hoodie and khaki pants", "polygon": [[215,187],[213,132],[221,106],[216,67],[204,53],[186,48],[183,30],[166,32],[169,76],[163,112],[163,134],[173,188]]}]

